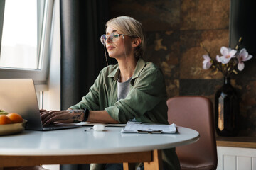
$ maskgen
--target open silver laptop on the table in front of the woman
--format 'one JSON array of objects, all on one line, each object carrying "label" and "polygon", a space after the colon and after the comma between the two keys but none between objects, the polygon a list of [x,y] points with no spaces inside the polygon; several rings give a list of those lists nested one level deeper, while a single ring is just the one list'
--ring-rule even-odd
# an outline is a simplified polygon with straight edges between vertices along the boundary
[{"label": "open silver laptop on the table in front of the woman", "polygon": [[0,79],[0,109],[18,113],[28,120],[26,130],[59,130],[78,125],[52,124],[43,126],[33,79]]}]

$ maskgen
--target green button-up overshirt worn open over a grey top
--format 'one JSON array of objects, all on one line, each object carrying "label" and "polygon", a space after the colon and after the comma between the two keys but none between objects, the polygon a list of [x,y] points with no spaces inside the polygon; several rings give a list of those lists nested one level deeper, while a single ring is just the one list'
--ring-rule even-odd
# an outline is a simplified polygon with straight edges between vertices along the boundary
[{"label": "green button-up overshirt worn open over a grey top", "polygon": [[[119,123],[136,118],[143,123],[169,124],[167,121],[166,86],[161,69],[139,59],[127,97],[117,101],[119,65],[102,69],[89,93],[71,109],[105,110]],[[164,149],[163,160],[170,169],[179,169],[175,148]]]}]

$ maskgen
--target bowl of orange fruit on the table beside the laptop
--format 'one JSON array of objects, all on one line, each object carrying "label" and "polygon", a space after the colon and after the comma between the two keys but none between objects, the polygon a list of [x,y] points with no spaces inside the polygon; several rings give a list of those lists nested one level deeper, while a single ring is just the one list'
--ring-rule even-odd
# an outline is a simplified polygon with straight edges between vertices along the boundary
[{"label": "bowl of orange fruit on the table beside the laptop", "polygon": [[0,109],[0,135],[11,135],[22,132],[27,120],[18,113],[7,113]]}]

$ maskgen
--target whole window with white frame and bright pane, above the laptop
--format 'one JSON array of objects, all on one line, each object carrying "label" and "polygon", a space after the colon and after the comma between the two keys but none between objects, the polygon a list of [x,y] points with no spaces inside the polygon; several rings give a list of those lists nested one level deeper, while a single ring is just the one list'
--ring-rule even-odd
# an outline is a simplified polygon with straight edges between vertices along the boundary
[{"label": "whole window with white frame and bright pane, above the laptop", "polygon": [[53,0],[0,0],[0,78],[46,84]]}]

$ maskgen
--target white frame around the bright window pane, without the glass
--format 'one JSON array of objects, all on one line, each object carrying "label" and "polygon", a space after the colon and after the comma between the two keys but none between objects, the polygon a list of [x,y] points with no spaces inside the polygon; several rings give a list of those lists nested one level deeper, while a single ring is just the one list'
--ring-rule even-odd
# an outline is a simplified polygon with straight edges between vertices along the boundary
[{"label": "white frame around the bright window pane, without the glass", "polygon": [[[41,35],[41,44],[38,49],[39,61],[41,64],[39,69],[16,69],[16,68],[5,68],[0,67],[0,79],[33,79],[35,84],[47,84],[48,69],[50,61],[50,46],[51,46],[51,30],[53,22],[53,5],[54,0],[45,0],[45,8],[43,13],[43,28]],[[5,0],[1,1],[0,4],[5,4]],[[4,8],[1,7],[0,10]],[[0,13],[0,28],[3,26],[3,15]],[[2,17],[2,18],[1,18]],[[0,29],[0,37],[2,30]]]}]

